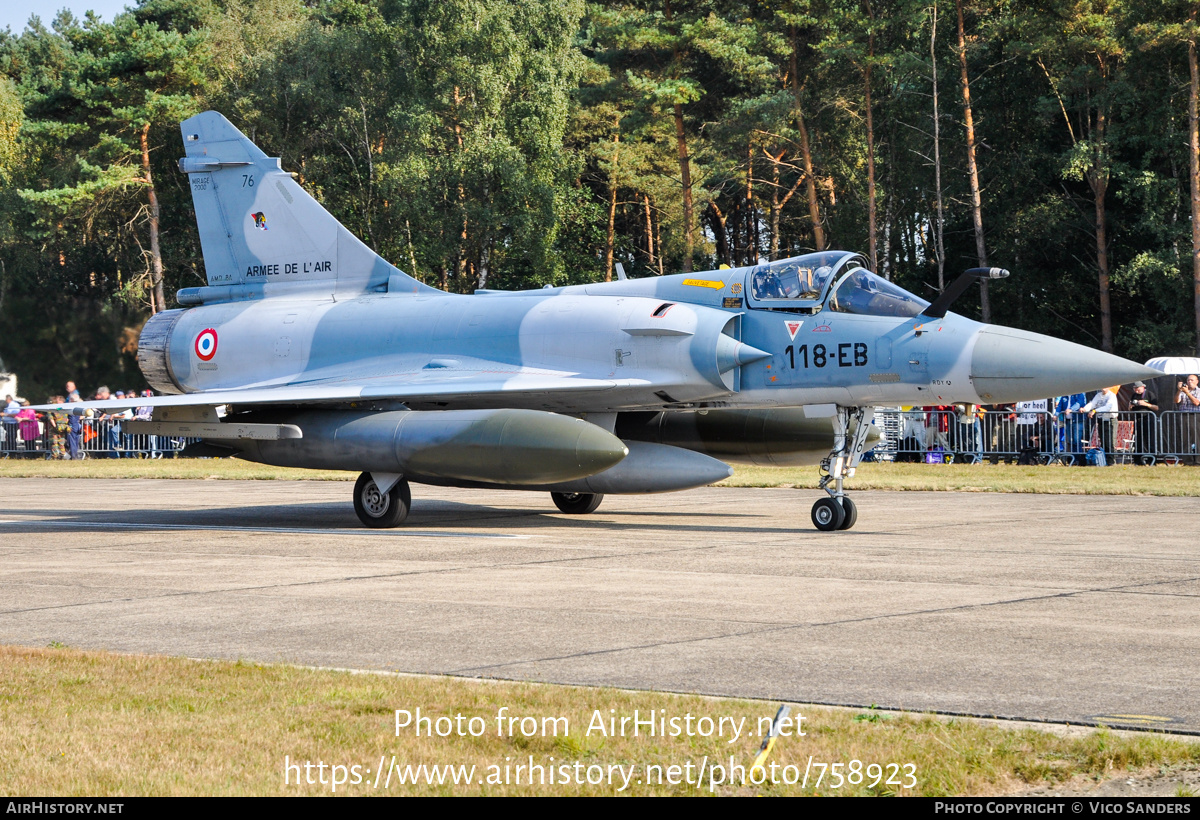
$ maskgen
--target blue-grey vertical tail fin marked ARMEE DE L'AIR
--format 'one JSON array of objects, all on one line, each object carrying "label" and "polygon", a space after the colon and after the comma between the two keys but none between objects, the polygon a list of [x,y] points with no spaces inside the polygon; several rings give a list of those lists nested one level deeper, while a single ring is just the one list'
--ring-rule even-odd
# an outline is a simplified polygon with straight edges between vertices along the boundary
[{"label": "blue-grey vertical tail fin marked ARMEE DE L'AIR", "polygon": [[364,245],[217,112],[180,128],[209,297],[433,292]]}]

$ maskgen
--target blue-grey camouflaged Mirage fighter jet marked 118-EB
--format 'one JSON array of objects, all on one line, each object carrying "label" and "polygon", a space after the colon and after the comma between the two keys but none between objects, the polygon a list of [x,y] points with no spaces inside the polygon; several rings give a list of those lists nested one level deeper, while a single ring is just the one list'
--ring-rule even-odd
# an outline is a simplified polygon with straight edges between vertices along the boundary
[{"label": "blue-grey camouflaged Mirage fighter jet marked 118-EB", "polygon": [[[360,472],[368,527],[404,520],[409,483],[604,493],[820,463],[818,529],[857,510],[844,479],[880,405],[992,403],[1158,375],[932,304],[823,251],[750,268],[448,294],[389,264],[224,116],[181,125],[208,286],[154,316],[138,364],[164,394],[127,432],[208,454]],[[197,445],[192,445],[196,448]]]}]

